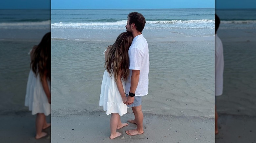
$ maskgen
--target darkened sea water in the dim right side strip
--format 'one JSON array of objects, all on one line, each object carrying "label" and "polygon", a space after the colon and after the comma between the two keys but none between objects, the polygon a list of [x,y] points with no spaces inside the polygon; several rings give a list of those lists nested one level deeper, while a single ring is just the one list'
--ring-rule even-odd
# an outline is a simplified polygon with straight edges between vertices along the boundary
[{"label": "darkened sea water in the dim right side strip", "polygon": [[224,50],[224,89],[217,111],[256,116],[256,9],[216,9],[216,14]]}]

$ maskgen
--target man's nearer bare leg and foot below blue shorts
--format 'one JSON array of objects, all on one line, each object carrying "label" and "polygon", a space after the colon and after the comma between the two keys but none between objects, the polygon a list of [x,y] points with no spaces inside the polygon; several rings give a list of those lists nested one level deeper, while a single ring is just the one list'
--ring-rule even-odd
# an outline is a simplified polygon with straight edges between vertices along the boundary
[{"label": "man's nearer bare leg and foot below blue shorts", "polygon": [[134,113],[134,117],[135,117],[135,122],[137,124],[137,129],[134,130],[128,130],[126,131],[127,135],[139,135],[139,134],[143,134],[143,113],[141,110],[141,105],[136,106],[136,107],[132,107],[133,113]]}]

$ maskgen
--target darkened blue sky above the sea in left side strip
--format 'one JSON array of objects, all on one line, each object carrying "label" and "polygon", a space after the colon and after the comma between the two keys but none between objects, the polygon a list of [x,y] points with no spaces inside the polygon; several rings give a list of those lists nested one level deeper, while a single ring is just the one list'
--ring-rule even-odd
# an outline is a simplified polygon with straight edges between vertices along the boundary
[{"label": "darkened blue sky above the sea in left side strip", "polygon": [[50,9],[51,0],[0,0],[0,9]]}]

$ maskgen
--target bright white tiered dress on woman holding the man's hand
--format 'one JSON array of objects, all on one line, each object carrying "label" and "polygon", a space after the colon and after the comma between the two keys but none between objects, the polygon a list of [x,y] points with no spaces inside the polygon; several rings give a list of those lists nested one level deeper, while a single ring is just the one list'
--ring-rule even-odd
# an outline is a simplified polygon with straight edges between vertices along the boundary
[{"label": "bright white tiered dress on woman holding the man's hand", "polygon": [[[125,82],[123,80],[122,84],[125,91]],[[103,106],[103,110],[107,111],[107,115],[118,113],[122,116],[127,113],[127,106],[123,103],[122,97],[118,91],[114,74],[112,74],[112,77],[109,77],[106,70],[104,71],[101,83],[99,105]]]}]

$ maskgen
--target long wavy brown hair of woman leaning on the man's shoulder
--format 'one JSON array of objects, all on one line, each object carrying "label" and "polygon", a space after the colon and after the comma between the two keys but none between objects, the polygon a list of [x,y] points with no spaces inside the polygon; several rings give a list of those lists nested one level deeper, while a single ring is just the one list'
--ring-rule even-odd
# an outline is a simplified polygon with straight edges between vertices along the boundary
[{"label": "long wavy brown hair of woman leaning on the man's shoulder", "polygon": [[108,46],[108,55],[105,62],[105,69],[110,77],[114,74],[115,81],[121,75],[124,81],[129,75],[129,56],[128,50],[132,44],[133,36],[131,33],[123,32],[113,45]]}]

